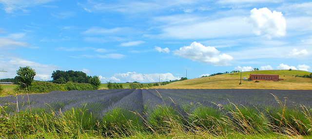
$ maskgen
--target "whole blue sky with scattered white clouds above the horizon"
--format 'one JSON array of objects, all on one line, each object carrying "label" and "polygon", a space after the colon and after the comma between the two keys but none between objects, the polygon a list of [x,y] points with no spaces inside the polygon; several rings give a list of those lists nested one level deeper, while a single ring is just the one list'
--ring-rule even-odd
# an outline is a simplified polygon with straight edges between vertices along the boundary
[{"label": "whole blue sky with scattered white clouds above the horizon", "polygon": [[0,0],[0,79],[19,67],[102,83],[312,71],[309,0]]}]

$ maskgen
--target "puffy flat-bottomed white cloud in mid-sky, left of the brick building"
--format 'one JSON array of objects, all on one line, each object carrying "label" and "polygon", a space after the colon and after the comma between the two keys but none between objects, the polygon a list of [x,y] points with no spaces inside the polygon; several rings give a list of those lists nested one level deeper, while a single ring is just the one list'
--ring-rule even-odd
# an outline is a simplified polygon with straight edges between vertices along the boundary
[{"label": "puffy flat-bottomed white cloud in mid-sky, left of the brick building", "polygon": [[180,47],[179,50],[173,52],[175,55],[183,58],[216,66],[230,65],[228,62],[233,60],[233,57],[230,55],[220,54],[220,51],[215,49],[215,47],[206,47],[195,41],[190,46]]}]

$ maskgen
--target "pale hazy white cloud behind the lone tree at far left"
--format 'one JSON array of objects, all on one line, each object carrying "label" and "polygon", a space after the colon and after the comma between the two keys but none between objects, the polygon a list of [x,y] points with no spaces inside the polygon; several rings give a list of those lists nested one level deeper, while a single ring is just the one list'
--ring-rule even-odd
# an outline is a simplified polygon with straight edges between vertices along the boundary
[{"label": "pale hazy white cloud behind the lone tree at far left", "polygon": [[36,71],[36,80],[52,80],[51,75],[54,70],[58,68],[56,65],[52,64],[41,64],[34,61],[24,60],[20,58],[4,58],[0,57],[0,67],[1,70],[4,69],[6,73],[0,73],[0,79],[3,78],[14,78],[17,76],[16,71],[20,67],[30,66]]}]

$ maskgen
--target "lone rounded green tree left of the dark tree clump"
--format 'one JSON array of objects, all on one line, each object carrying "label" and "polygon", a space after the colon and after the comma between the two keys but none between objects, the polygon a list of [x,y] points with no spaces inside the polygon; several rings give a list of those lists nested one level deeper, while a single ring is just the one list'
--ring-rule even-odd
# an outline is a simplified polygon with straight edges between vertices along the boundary
[{"label": "lone rounded green tree left of the dark tree clump", "polygon": [[20,84],[21,88],[25,88],[26,86],[31,86],[34,77],[36,76],[36,71],[29,66],[20,67],[19,70],[16,71],[18,76],[16,77],[18,84]]}]

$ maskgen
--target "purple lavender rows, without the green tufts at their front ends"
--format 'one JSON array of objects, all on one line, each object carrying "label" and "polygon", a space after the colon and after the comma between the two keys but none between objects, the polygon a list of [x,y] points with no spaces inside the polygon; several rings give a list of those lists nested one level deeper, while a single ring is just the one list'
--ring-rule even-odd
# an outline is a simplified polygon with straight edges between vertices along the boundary
[{"label": "purple lavender rows, without the green tufts at their front ends", "polygon": [[[287,97],[288,105],[304,104],[312,107],[312,90],[264,90],[264,89],[111,89],[92,91],[52,91],[47,94],[29,94],[33,111],[66,111],[72,108],[85,108],[99,117],[104,117],[110,110],[120,108],[149,116],[157,106],[171,106],[185,115],[192,111],[195,104],[200,106],[235,104],[255,105],[257,107],[276,107],[273,95],[283,100]],[[0,98],[0,105],[16,103],[20,110],[28,110],[27,95]],[[213,102],[213,103],[212,103]],[[8,107],[16,111],[16,105]]]}]

